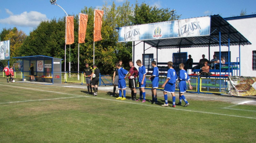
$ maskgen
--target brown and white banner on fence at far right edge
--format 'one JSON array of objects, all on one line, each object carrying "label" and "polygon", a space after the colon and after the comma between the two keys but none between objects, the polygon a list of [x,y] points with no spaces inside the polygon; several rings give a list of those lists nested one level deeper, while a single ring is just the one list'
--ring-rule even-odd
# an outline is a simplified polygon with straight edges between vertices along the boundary
[{"label": "brown and white banner on fence at far right edge", "polygon": [[229,76],[228,94],[232,96],[256,96],[256,77]]}]

